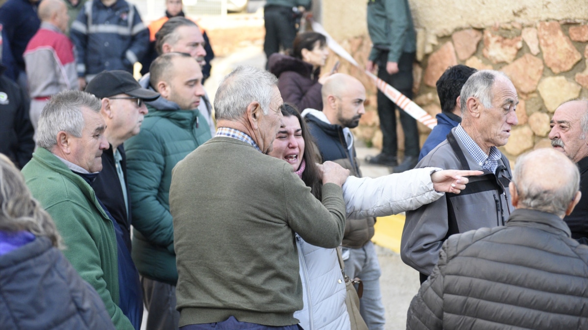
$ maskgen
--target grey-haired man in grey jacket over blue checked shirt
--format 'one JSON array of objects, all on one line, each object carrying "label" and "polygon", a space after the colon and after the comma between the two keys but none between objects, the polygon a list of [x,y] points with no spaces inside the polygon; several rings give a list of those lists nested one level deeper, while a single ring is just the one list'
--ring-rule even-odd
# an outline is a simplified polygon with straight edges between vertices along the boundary
[{"label": "grey-haired man in grey jacket over blue checked shirt", "polygon": [[421,283],[433,271],[447,237],[504,225],[509,217],[510,194],[506,187],[512,174],[509,160],[497,147],[506,144],[511,127],[518,123],[517,103],[515,86],[503,73],[474,73],[460,94],[462,123],[417,164],[417,168],[431,166],[485,173],[470,178],[459,195],[445,194],[445,198],[406,213],[400,257],[420,272]]}]

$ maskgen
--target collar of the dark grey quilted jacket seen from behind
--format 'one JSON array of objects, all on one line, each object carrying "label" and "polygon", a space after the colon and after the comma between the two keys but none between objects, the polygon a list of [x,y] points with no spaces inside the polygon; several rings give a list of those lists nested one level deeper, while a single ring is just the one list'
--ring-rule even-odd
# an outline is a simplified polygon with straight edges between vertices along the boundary
[{"label": "collar of the dark grey quilted jacket seen from behind", "polygon": [[538,227],[550,233],[571,237],[570,228],[562,218],[555,214],[543,211],[530,210],[529,208],[517,208],[510,214],[507,226]]}]

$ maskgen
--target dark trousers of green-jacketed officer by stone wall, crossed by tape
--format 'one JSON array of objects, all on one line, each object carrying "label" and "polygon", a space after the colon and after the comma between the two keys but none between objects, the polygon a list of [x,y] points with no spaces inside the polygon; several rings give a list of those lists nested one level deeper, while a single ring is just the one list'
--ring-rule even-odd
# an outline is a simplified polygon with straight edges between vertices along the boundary
[{"label": "dark trousers of green-jacketed officer by stone wall, crossed by tape", "polygon": [[[415,60],[415,53],[402,53],[398,60],[399,72],[394,75],[389,75],[386,71],[387,58],[388,52],[382,52],[377,58],[377,78],[384,80],[412,99],[412,63]],[[405,133],[405,156],[419,157],[419,131],[416,127],[416,119],[400,110],[384,93],[377,90],[377,114],[380,117],[380,130],[383,137],[382,153],[397,156],[396,109],[400,112],[400,125]]]}]

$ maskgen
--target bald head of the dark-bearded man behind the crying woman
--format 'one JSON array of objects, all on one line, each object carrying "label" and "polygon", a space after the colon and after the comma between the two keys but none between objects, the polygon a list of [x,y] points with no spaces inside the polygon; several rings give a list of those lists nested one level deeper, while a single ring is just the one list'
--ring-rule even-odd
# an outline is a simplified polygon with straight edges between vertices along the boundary
[{"label": "bald head of the dark-bearded man behind the crying woman", "polygon": [[332,124],[353,128],[365,113],[363,103],[366,89],[356,78],[345,73],[335,73],[326,79],[321,89],[323,113]]}]

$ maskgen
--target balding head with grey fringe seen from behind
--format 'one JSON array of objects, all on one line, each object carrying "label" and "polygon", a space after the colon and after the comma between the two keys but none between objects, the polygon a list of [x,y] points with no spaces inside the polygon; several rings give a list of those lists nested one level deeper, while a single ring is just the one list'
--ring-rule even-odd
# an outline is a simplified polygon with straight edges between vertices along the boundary
[{"label": "balding head with grey fringe seen from behind", "polygon": [[518,202],[517,207],[563,217],[577,197],[580,172],[564,154],[553,149],[537,149],[517,159],[510,186],[511,193],[517,194],[513,198],[513,204],[515,200]]}]

